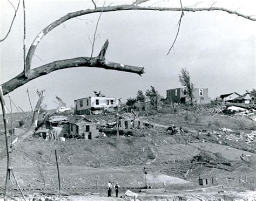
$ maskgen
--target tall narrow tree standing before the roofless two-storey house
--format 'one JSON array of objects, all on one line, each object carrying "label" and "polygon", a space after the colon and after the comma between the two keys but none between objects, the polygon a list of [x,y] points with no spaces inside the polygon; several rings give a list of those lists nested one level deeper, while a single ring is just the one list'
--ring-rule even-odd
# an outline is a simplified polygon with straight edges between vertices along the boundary
[{"label": "tall narrow tree standing before the roofless two-storey house", "polygon": [[194,84],[190,81],[190,73],[186,70],[186,68],[181,68],[179,81],[180,84],[186,88],[187,96],[190,98],[191,105],[193,105]]}]

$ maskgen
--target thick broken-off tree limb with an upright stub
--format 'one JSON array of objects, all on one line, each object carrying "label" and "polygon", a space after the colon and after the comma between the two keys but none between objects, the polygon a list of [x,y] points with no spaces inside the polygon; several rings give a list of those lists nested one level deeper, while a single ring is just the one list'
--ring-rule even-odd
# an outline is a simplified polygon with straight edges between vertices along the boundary
[{"label": "thick broken-off tree limb with an upright stub", "polygon": [[11,80],[2,84],[3,93],[4,95],[8,94],[11,91],[14,91],[14,89],[26,84],[27,82],[33,79],[36,79],[38,77],[41,77],[43,75],[49,74],[53,71],[72,68],[72,67],[84,66],[84,67],[105,68],[107,70],[125,71],[125,72],[137,73],[139,75],[144,73],[143,67],[124,65],[124,64],[118,64],[111,61],[107,61],[105,59],[107,44],[109,44],[108,40],[106,40],[98,57],[93,57],[93,58],[77,57],[72,59],[53,61],[52,63],[45,64],[37,68],[32,68],[28,74],[28,78],[25,78],[22,72],[18,74],[15,78],[12,78]]}]

